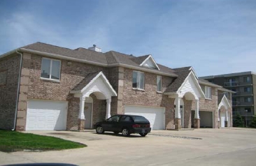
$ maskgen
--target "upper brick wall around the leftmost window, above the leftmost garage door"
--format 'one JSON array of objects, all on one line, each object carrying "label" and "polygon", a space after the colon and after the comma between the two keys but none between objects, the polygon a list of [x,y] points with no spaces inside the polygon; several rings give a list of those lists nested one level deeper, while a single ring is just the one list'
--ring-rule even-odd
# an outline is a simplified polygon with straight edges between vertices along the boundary
[{"label": "upper brick wall around the leftmost window, above the leftmost garage door", "polygon": [[62,60],[60,82],[41,80],[41,61],[42,56],[31,56],[28,98],[66,100],[71,89],[82,81],[87,74],[103,71],[104,75],[108,77],[106,68],[74,61],[71,61],[71,64],[68,65],[68,61]]}]

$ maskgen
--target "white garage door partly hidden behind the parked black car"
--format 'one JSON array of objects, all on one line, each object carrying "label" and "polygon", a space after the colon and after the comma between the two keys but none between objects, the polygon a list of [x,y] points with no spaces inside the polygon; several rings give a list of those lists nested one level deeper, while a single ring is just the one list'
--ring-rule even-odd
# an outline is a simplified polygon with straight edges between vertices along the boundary
[{"label": "white garage door partly hidden behind the parked black car", "polygon": [[125,105],[125,114],[144,116],[150,121],[152,130],[164,130],[165,110],[163,107],[140,107]]}]

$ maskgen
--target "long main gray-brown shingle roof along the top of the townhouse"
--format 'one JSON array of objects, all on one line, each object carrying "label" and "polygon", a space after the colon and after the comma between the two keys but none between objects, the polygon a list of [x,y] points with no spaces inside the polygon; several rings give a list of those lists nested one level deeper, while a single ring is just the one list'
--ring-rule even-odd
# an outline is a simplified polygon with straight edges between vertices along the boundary
[{"label": "long main gray-brown shingle roof along the top of the townhouse", "polygon": [[[141,62],[143,62],[149,55],[145,56],[131,56],[128,54],[122,54],[120,52],[115,52],[115,51],[110,51],[106,53],[102,52],[95,52],[92,50],[87,50],[85,48],[79,47],[75,50],[71,50],[69,48],[65,47],[58,47],[55,45],[48,45],[45,43],[33,43],[31,45],[26,45],[24,47],[21,47],[27,50],[34,50],[38,52],[46,52],[50,54],[58,54],[62,56],[68,56],[72,57],[75,59],[82,59],[82,60],[87,60],[87,61],[92,61],[96,63],[101,63],[106,66],[111,65],[111,64],[125,64],[129,66],[134,66],[134,67],[139,67],[139,68],[146,68],[143,66],[139,66]],[[162,73],[166,74],[172,74],[173,76],[176,76],[174,74],[174,71],[171,70],[171,68],[168,68],[166,66],[159,65],[159,69],[154,69],[154,68],[147,68],[148,70],[157,70]]]}]

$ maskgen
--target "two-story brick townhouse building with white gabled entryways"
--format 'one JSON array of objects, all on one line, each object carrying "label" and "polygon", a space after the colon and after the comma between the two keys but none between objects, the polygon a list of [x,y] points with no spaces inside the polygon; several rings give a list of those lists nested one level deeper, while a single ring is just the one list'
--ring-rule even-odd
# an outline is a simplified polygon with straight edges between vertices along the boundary
[{"label": "two-story brick townhouse building with white gabled entryways", "polygon": [[33,43],[0,56],[0,128],[84,130],[113,114],[152,130],[232,126],[232,91],[152,55]]}]

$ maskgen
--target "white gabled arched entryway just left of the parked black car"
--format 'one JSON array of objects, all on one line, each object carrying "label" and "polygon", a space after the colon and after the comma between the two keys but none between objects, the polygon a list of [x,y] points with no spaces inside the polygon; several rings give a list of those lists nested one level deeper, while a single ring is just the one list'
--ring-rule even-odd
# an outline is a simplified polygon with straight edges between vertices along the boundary
[{"label": "white gabled arched entryway just left of the parked black car", "polygon": [[[78,84],[78,86],[75,87],[73,91],[71,91],[71,93],[74,93],[74,97],[80,98],[78,130],[84,130],[85,127],[92,128],[94,120],[93,117],[95,114],[93,110],[97,109],[95,109],[94,105],[90,103],[95,103],[94,100],[104,100],[106,109],[100,110],[106,110],[105,114],[103,115],[105,116],[105,119],[108,119],[111,116],[111,97],[117,96],[117,93],[102,72],[98,74],[92,73],[92,75],[89,75],[88,79],[92,80],[86,79],[87,77],[85,77],[85,79],[80,82],[80,84]],[[95,96],[94,100],[92,95]],[[85,112],[86,110],[88,110],[88,112]],[[86,119],[88,122],[86,122]]]}]

